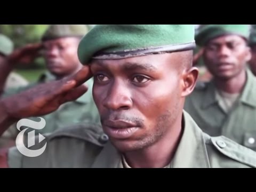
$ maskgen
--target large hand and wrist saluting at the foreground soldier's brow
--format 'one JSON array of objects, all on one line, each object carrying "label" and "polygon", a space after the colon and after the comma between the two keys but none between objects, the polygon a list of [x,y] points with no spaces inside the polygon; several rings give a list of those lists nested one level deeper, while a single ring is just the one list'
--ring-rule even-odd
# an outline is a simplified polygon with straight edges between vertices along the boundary
[{"label": "large hand and wrist saluting at the foreground soldier's brow", "polygon": [[49,114],[62,103],[81,97],[87,87],[83,84],[92,77],[90,68],[83,67],[73,76],[37,85],[29,90],[0,101],[10,118],[21,119]]}]

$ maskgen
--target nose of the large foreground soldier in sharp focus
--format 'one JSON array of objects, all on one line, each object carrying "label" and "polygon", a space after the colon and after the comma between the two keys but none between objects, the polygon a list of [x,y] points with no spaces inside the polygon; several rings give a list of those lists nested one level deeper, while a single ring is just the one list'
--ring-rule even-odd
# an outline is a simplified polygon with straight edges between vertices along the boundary
[{"label": "nose of the large foreground soldier in sharp focus", "polygon": [[103,106],[111,110],[127,110],[132,107],[131,90],[127,83],[114,81],[107,91]]}]

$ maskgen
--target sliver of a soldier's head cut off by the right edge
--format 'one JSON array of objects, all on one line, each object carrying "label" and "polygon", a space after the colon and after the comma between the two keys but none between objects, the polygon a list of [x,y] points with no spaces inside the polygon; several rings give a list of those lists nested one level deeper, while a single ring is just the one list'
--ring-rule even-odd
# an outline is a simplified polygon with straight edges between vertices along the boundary
[{"label": "sliver of a soldier's head cut off by the right edge", "polygon": [[249,61],[249,66],[254,76],[256,76],[256,25],[252,25],[249,46],[251,47],[252,52],[252,58]]}]

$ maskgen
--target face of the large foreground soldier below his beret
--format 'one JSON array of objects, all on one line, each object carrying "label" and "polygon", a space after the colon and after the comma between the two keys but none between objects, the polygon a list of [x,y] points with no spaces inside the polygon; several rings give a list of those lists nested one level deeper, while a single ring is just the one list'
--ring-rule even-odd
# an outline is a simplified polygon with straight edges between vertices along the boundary
[{"label": "face of the large foreground soldier below his beret", "polygon": [[180,53],[92,61],[94,101],[117,149],[146,148],[170,131],[188,94],[181,65]]}]

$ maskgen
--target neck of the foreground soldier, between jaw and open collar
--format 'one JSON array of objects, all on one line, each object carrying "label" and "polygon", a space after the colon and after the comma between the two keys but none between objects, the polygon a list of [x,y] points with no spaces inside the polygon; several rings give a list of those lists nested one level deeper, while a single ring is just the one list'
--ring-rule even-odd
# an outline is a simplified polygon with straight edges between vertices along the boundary
[{"label": "neck of the foreground soldier, between jaw and open collar", "polygon": [[182,114],[154,145],[125,153],[126,162],[134,168],[162,168],[170,164],[182,135],[181,121]]}]

